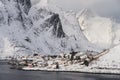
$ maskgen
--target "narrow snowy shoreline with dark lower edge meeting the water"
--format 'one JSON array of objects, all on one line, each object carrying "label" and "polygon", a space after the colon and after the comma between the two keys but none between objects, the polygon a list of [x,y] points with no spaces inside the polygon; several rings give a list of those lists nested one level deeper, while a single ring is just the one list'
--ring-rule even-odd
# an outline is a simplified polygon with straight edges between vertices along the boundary
[{"label": "narrow snowy shoreline with dark lower edge meeting the water", "polygon": [[91,69],[86,70],[62,70],[62,69],[22,69],[23,71],[44,71],[44,72],[73,72],[73,73],[88,73],[88,74],[111,74],[120,75],[120,70],[104,70],[104,69]]}]

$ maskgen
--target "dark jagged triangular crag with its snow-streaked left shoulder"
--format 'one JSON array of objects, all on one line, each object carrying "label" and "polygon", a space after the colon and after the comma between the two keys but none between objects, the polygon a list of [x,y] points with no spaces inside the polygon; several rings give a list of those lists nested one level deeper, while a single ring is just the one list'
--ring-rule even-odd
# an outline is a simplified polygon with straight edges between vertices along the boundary
[{"label": "dark jagged triangular crag with its snow-streaked left shoulder", "polygon": [[39,9],[37,12],[38,14],[36,13],[36,15],[31,16],[33,20],[33,24],[36,27],[38,26],[37,28],[36,27],[34,28],[34,30],[37,30],[34,32],[36,35],[39,35],[36,32],[45,33],[46,31],[52,29],[51,34],[53,36],[56,36],[58,38],[65,37],[65,33],[62,28],[62,23],[59,18],[59,14],[49,12],[45,9]]}]

